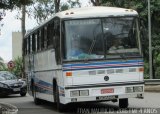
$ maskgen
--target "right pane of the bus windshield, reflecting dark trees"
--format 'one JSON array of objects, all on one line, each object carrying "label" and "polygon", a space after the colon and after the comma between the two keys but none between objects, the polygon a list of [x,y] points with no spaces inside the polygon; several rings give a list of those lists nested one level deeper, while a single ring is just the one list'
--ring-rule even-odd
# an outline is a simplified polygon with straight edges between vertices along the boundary
[{"label": "right pane of the bus windshield, reflecting dark trees", "polygon": [[134,17],[103,19],[106,58],[133,57],[140,55],[138,23]]}]

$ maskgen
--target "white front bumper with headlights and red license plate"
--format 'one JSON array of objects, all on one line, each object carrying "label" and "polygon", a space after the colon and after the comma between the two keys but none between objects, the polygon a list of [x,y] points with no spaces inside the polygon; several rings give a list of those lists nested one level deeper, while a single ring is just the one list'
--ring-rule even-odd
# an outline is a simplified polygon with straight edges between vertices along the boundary
[{"label": "white front bumper with headlights and red license plate", "polygon": [[[88,91],[88,93],[87,93]],[[123,98],[143,98],[144,83],[123,86],[65,89],[62,103],[115,101]]]}]

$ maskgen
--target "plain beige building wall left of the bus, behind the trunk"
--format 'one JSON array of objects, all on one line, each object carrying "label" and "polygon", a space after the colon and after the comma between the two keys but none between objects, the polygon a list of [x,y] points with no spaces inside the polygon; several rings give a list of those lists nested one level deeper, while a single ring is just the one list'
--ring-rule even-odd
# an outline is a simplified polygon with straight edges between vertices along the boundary
[{"label": "plain beige building wall left of the bus, behind the trunk", "polygon": [[22,33],[12,32],[12,59],[22,57]]}]

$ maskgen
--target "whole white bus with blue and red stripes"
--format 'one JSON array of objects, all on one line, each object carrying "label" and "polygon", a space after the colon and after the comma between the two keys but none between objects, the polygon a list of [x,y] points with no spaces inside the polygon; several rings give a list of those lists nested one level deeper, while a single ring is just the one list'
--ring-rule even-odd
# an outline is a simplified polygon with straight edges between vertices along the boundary
[{"label": "whole white bus with blue and red stripes", "polygon": [[28,90],[36,104],[119,102],[143,98],[138,14],[114,7],[59,12],[25,35]]}]

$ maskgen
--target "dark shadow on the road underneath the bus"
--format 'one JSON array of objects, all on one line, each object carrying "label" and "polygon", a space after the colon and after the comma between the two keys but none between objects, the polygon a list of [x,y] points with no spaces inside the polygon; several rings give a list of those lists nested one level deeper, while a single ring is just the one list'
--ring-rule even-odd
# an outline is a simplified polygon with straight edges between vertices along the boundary
[{"label": "dark shadow on the road underneath the bus", "polygon": [[[32,102],[34,104],[34,102]],[[31,102],[29,103],[31,105]],[[32,104],[32,105],[33,105]],[[38,105],[38,108],[29,109],[30,114],[39,110],[43,114],[59,114],[56,109],[56,105],[51,102],[43,101],[41,105]],[[20,111],[26,110],[20,109]],[[48,110],[48,111],[47,111]],[[92,113],[109,113],[119,110],[119,108],[115,105],[110,105],[106,103],[72,103],[65,106],[64,112],[66,114],[92,114]],[[51,113],[52,112],[52,113]],[[21,113],[23,114],[23,113]]]}]

